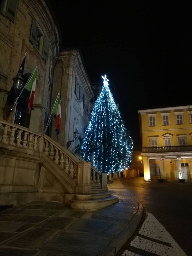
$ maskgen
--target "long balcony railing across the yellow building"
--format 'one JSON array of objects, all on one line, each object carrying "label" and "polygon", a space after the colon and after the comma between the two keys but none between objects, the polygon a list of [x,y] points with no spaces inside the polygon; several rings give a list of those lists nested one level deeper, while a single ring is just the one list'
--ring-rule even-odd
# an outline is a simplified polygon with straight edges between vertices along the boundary
[{"label": "long balcony railing across the yellow building", "polygon": [[161,153],[161,152],[181,152],[192,151],[192,145],[189,146],[170,146],[170,147],[145,147],[143,153]]}]

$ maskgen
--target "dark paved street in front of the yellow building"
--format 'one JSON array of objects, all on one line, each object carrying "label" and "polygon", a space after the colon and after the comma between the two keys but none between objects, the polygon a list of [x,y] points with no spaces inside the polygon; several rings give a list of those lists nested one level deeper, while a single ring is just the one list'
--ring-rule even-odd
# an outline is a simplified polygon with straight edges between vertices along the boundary
[{"label": "dark paved street in front of the yellow building", "polygon": [[[151,214],[150,217],[154,218],[154,220],[157,219],[159,226],[162,225],[165,228],[165,232],[169,232],[182,250],[188,256],[192,256],[192,183],[148,183],[144,182],[143,178],[127,178],[121,181],[134,195],[136,200],[143,204],[146,212],[149,213],[149,215]],[[154,222],[154,220],[152,222]],[[163,228],[162,226],[161,228]],[[137,239],[137,237],[135,239]],[[171,241],[170,237],[167,239],[166,242]],[[132,245],[135,242],[137,241],[132,241]],[[130,243],[127,244],[127,246],[128,245],[130,245]],[[125,255],[133,256],[138,254]],[[169,254],[165,253],[164,255]]]}]

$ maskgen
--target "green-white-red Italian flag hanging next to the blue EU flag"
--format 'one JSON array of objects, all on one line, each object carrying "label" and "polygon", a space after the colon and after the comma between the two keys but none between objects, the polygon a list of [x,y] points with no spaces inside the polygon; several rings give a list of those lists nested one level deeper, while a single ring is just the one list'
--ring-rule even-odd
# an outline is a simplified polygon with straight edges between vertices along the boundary
[{"label": "green-white-red Italian flag hanging next to the blue EU flag", "polygon": [[36,82],[37,82],[37,66],[25,85],[25,89],[30,92],[29,101],[28,101],[28,113],[31,112],[31,106],[33,105],[33,101],[35,98]]}]

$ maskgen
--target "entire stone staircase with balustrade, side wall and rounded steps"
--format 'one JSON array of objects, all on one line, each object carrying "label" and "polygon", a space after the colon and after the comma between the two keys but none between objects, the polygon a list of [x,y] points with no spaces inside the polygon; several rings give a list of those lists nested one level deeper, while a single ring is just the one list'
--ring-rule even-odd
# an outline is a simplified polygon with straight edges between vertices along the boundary
[{"label": "entire stone staircase with balustrade, side wall and rounded steps", "polygon": [[[12,193],[9,203],[19,204],[21,200],[13,199],[19,192],[25,200],[22,202],[26,203],[30,200],[27,197],[30,192],[37,199],[60,201],[78,211],[97,210],[118,201],[117,196],[107,191],[106,174],[46,135],[0,120],[0,153],[0,170],[3,170],[3,174],[9,177],[11,168],[14,175],[20,175],[17,182],[13,177],[15,183],[11,179],[7,181],[8,178],[0,178],[0,186],[3,187],[0,200],[8,198],[6,193]],[[16,162],[15,166],[9,167],[8,163],[6,167],[4,158],[10,159],[10,162],[14,159],[22,161],[23,166],[19,169]],[[28,169],[34,164],[37,165],[33,173],[36,178],[30,183],[23,176],[31,175]],[[24,170],[22,174],[21,169]],[[2,191],[4,194],[1,197]],[[7,204],[6,199],[4,204]]]}]

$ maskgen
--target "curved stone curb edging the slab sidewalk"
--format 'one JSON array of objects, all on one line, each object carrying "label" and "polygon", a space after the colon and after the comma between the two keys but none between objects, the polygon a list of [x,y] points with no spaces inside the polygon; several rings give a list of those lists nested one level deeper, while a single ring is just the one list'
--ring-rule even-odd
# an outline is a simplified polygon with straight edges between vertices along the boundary
[{"label": "curved stone curb edging the slab sidewalk", "polygon": [[115,256],[125,245],[127,240],[133,236],[142,220],[143,214],[143,206],[138,203],[138,210],[127,226],[119,233],[119,235],[114,237],[111,242],[99,254],[97,254],[97,256]]}]

